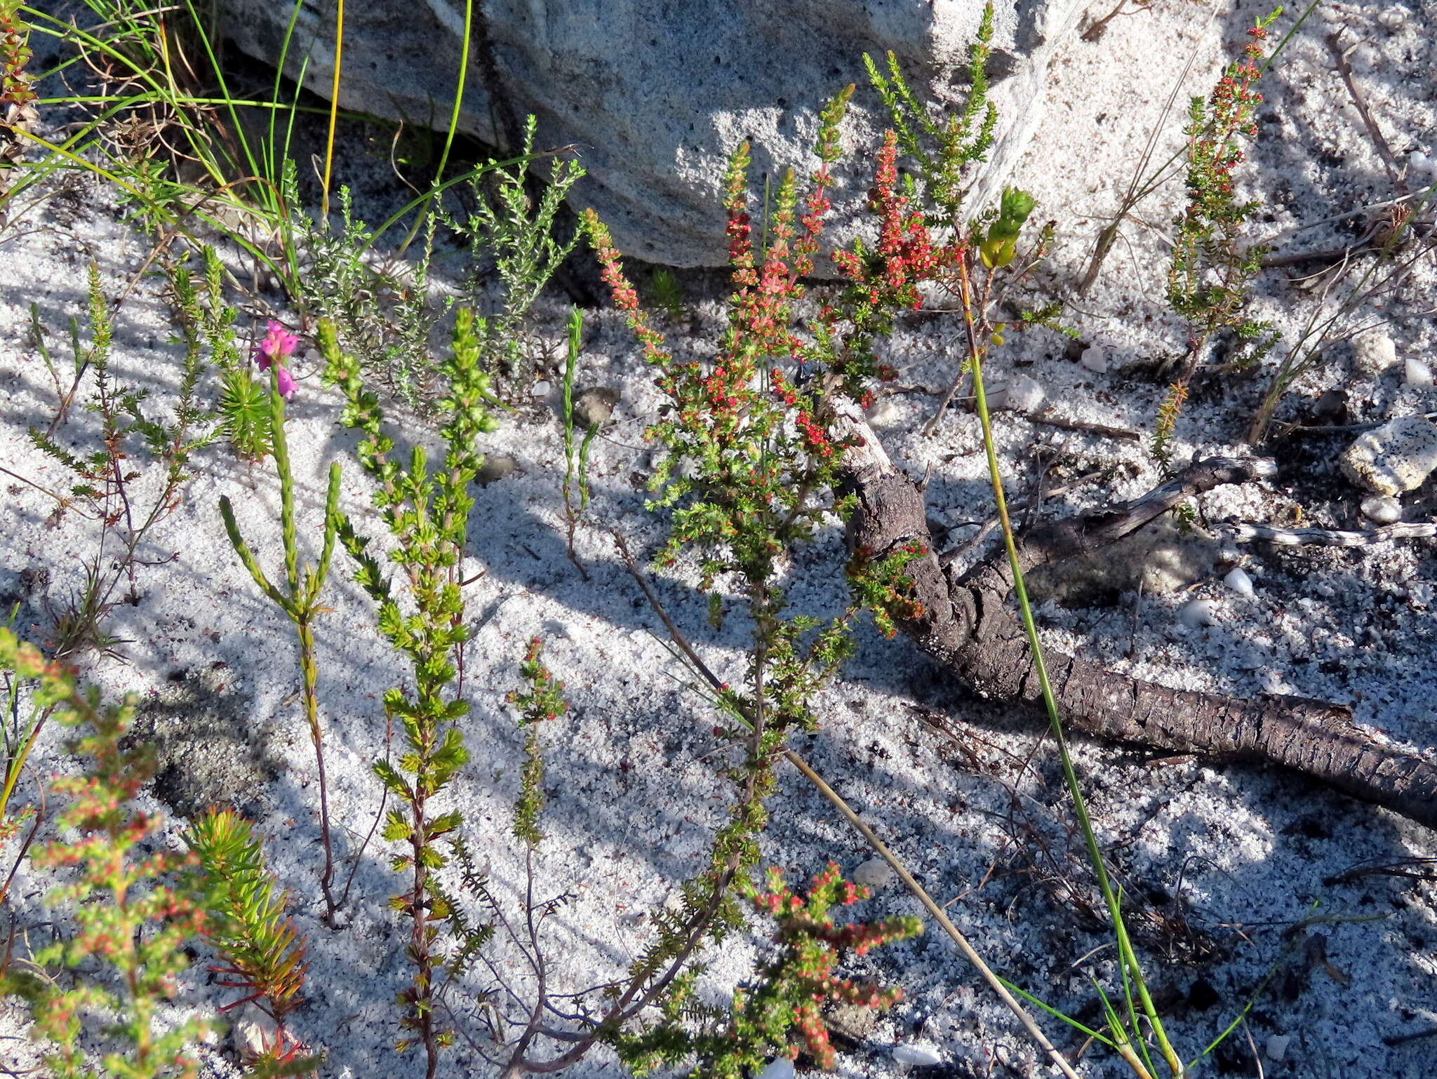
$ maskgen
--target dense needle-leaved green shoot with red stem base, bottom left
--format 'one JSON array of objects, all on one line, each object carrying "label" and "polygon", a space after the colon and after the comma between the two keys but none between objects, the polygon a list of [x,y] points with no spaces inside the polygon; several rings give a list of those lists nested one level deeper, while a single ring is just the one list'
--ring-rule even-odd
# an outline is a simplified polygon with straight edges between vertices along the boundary
[{"label": "dense needle-leaved green shoot with red stem base, bottom left", "polygon": [[259,1065],[296,1062],[303,1045],[285,1020],[303,1003],[306,944],[286,914],[286,897],[274,891],[263,845],[250,823],[230,809],[200,818],[185,843],[198,859],[195,891],[205,915],[201,932],[226,964],[213,970],[218,984],[244,993],[224,1010],[263,1001],[276,1034]]}]

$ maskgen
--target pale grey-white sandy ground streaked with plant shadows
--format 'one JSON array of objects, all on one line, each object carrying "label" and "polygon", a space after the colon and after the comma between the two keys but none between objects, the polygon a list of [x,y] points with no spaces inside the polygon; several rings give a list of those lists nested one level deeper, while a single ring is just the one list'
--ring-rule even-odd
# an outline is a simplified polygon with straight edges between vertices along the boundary
[{"label": "pale grey-white sandy ground streaked with plant shadows", "polygon": [[[1036,218],[1059,221],[1052,261],[1056,282],[1081,276],[1098,228],[1127,185],[1147,134],[1164,102],[1194,62],[1184,93],[1204,92],[1220,49],[1239,40],[1259,9],[1236,11],[1158,0],[1151,10],[1111,22],[1099,42],[1073,40],[1058,60],[1049,116],[1016,181],[1040,200]],[[1102,14],[1104,11],[1095,11]],[[1289,26],[1290,23],[1283,23]],[[1322,250],[1349,240],[1344,223],[1305,227],[1335,214],[1391,198],[1392,185],[1351,108],[1323,36],[1349,27],[1365,42],[1354,56],[1372,114],[1408,182],[1437,154],[1437,86],[1431,70],[1433,0],[1388,9],[1332,6],[1309,19],[1263,86],[1262,138],[1244,182],[1263,198],[1255,228],[1276,239],[1277,251]],[[855,57],[856,72],[856,57]],[[1180,98],[1181,101],[1181,98]],[[1170,115],[1157,142],[1158,159],[1180,145],[1180,114]],[[1145,362],[1180,348],[1183,333],[1165,312],[1163,282],[1171,220],[1181,197],[1170,184],[1145,201],[1122,228],[1098,286],[1071,320],[1089,343],[1108,351],[1109,369],[1079,366],[1066,341],[1045,332],[1019,336],[1000,351],[989,378],[1015,374],[1038,381],[1053,415],[1150,430],[1161,385]],[[55,388],[30,341],[30,303],[50,328],[62,368],[63,326],[83,310],[85,267],[99,264],[106,293],[119,295],[148,256],[148,244],[119,220],[108,195],[88,181],[75,197],[34,208],[0,236],[0,461],[36,483],[60,483],[37,454],[26,428],[47,424]],[[1283,333],[1300,335],[1321,290],[1295,282],[1299,270],[1269,272],[1260,282],[1259,313]],[[1387,320],[1398,366],[1369,375],[1354,368],[1351,349],[1329,349],[1299,384],[1298,407],[1323,389],[1348,394],[1349,422],[1385,420],[1437,408],[1431,386],[1407,386],[1401,361],[1437,362],[1437,328],[1430,313],[1437,276],[1431,260],[1401,295],[1365,305],[1354,326]],[[698,295],[697,282],[691,292]],[[1329,297],[1329,303],[1334,297]],[[542,332],[560,338],[565,306],[540,303]],[[703,355],[720,326],[721,307],[694,302],[694,315],[671,339]],[[114,371],[151,391],[162,408],[175,389],[177,352],[160,282],[141,274],[116,318]],[[550,746],[540,881],[543,898],[565,902],[545,922],[559,986],[578,991],[616,976],[648,940],[644,912],[671,902],[721,819],[724,787],[716,777],[721,746],[714,717],[684,684],[661,641],[657,619],[616,562],[608,527],[622,529],[637,547],[652,549],[664,522],[645,511],[635,474],[650,454],[642,431],[658,405],[637,351],[611,313],[588,320],[582,385],[621,394],[614,424],[593,451],[592,527],[579,534],[585,582],[565,557],[559,477],[559,427],[546,409],[506,422],[486,444],[516,458],[506,478],[476,488],[471,562],[483,570],[467,589],[473,645],[466,694],[473,716],[466,734],[471,760],[451,803],[464,812],[470,846],[489,863],[499,894],[514,902],[522,863],[509,840],[517,789],[519,736],[503,697],[519,684],[526,641],[542,635],[547,659],[566,681],[570,714],[545,734]],[[960,323],[956,315],[914,318],[894,335],[890,359],[901,382],[937,388],[951,378]],[[323,476],[345,464],[343,503],[362,510],[368,481],[354,463],[354,440],[336,427],[336,397],[320,386],[313,363],[299,363],[300,392],[290,409],[289,443],[300,483],[302,534],[315,536],[322,514]],[[1230,378],[1196,395],[1178,425],[1175,455],[1242,453],[1239,438],[1262,376]],[[944,418],[933,438],[920,431],[935,399],[888,398],[875,417],[888,451],[914,474],[933,468],[930,514],[951,527],[951,543],[990,514],[977,420],[963,411]],[[1063,431],[1003,414],[999,441],[1015,493],[1030,491],[1040,471],[1050,487],[1091,471],[1101,481],[1043,506],[1063,514],[1131,497],[1151,487],[1157,471],[1142,444]],[[433,435],[414,417],[395,412],[401,445]],[[63,440],[86,444],[92,418],[75,414]],[[1201,500],[1211,520],[1239,517],[1290,524],[1359,527],[1365,493],[1345,480],[1336,458],[1348,437],[1290,440],[1280,448],[1282,471],[1269,488],[1214,491]],[[138,481],[144,493],[148,480]],[[404,678],[372,625],[372,606],[346,579],[339,556],[329,588],[335,608],[319,629],[320,691],[328,727],[331,805],[339,851],[356,856],[349,922],[329,931],[318,921],[319,868],[315,823],[315,766],[296,698],[293,639],[282,615],[256,593],[236,560],[216,509],[221,494],[236,503],[240,527],[266,565],[277,562],[277,488],[267,464],[236,463],[223,448],[204,451],[182,506],[154,534],[139,570],[139,602],[116,609],[112,629],[128,642],[125,661],[95,659],[85,672],[108,691],[135,691],[142,730],[161,744],[164,772],[144,802],[171,816],[165,840],[178,843],[185,813],[233,800],[269,836],[272,866],[290,891],[296,922],[310,940],[309,1006],[296,1032],[328,1052],[322,1075],[362,1079],[382,1072],[418,1073],[420,1063],[395,1065],[394,994],[407,983],[402,927],[385,909],[395,882],[378,840],[364,846],[379,807],[369,764],[385,753],[382,691]],[[7,477],[6,527],[0,539],[0,595],[20,603],[26,628],[43,635],[47,611],[80,580],[96,530],[75,514],[56,520],[53,503]],[[1433,516],[1431,484],[1405,497],[1405,519]],[[359,517],[362,520],[362,517]],[[310,523],[305,529],[303,522]],[[376,523],[366,523],[378,534]],[[382,543],[382,540],[381,540]],[[796,609],[833,611],[844,599],[841,540],[825,533],[792,566]],[[1237,695],[1282,691],[1352,704],[1359,721],[1384,737],[1434,751],[1437,697],[1433,621],[1437,562],[1430,542],[1357,550],[1277,550],[1252,545],[1242,565],[1256,591],[1227,589],[1221,573],[1168,595],[1135,602],[1122,595],[1106,606],[1063,608],[1045,602],[1046,639],[1118,670],[1170,685]],[[693,588],[691,566],[661,578],[670,611],[716,670],[741,670],[741,619],[716,632]],[[1193,598],[1214,601],[1216,625],[1186,628],[1178,609]],[[1088,974],[1106,977],[1111,944],[1083,908],[1096,889],[1082,865],[1081,842],[1056,760],[1026,713],[993,707],[946,685],[904,639],[865,631],[861,652],[819,700],[822,730],[799,738],[815,767],[861,810],[1007,977],[1052,1004],[1081,1011],[1092,1001]],[[56,733],[40,747],[23,787],[34,777],[72,766]],[[1025,761],[1032,763],[1025,767]],[[1437,1039],[1403,1040],[1437,1027],[1437,888],[1428,876],[1348,875],[1359,865],[1433,858],[1430,830],[1358,805],[1311,783],[1256,767],[1206,767],[1187,760],[1144,763],[1125,749],[1082,743],[1078,759],[1102,842],[1127,888],[1135,932],[1155,990],[1168,1003],[1168,1030],[1190,1056],[1206,1046],[1272,973],[1249,1016],[1265,1075],[1387,1079],[1427,1076]],[[861,839],[799,776],[780,773],[764,859],[790,875],[816,872],[828,859],[852,871],[868,858]],[[1417,866],[1414,872],[1423,872]],[[14,917],[29,943],[52,932],[42,897],[45,875],[20,869],[13,885]],[[864,917],[917,912],[897,885],[878,889]],[[1293,924],[1316,924],[1289,932]],[[500,941],[500,971],[523,984],[520,958]],[[757,944],[730,943],[708,957],[704,993],[720,997],[759,954]],[[854,973],[904,987],[907,1000],[879,1019],[839,1075],[924,1076],[1042,1075],[1035,1050],[979,984],[941,934],[884,948],[851,964]],[[185,980],[184,1009],[213,1007],[226,993],[203,964]],[[493,980],[476,974],[450,997],[456,1020],[483,1046],[481,1000]],[[1092,1020],[1094,1014],[1085,1014]],[[0,1026],[20,1033],[13,1004],[0,1006]],[[1061,1045],[1065,1032],[1048,1024]],[[1288,1039],[1283,1042],[1283,1039]],[[27,1063],[19,1042],[0,1056]],[[931,1049],[941,1065],[910,1069],[897,1046]],[[207,1068],[230,1068],[227,1042]],[[461,1045],[447,1075],[489,1075]],[[1119,1073],[1101,1052],[1085,1059],[1091,1075]],[[1224,1075],[1259,1075],[1239,1033],[1209,1068]],[[606,1053],[572,1069],[576,1076],[619,1073]]]}]

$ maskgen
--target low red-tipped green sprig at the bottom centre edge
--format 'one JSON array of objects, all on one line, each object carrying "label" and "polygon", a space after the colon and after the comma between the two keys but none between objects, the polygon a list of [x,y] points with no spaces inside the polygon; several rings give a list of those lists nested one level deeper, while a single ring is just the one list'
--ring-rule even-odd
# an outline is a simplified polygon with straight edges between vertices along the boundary
[{"label": "low red-tipped green sprig at the bottom centre edge", "polygon": [[[769,891],[744,889],[754,909],[777,921],[779,953],[754,971],[747,987],[734,990],[727,1014],[697,1003],[696,973],[674,986],[662,1019],[647,1029],[616,1039],[619,1059],[637,1076],[662,1066],[694,1060],[690,1079],[744,1079],[775,1055],[793,1057],[802,1049],[819,1068],[832,1069],[833,1047],[822,1007],[842,1001],[887,1009],[902,999],[900,988],[879,988],[836,976],[839,953],[864,955],[872,948],[923,932],[918,918],[836,925],[833,907],[867,899],[867,888],[844,879],[833,862],[813,878],[806,897],[795,895],[777,869],[769,869]],[[798,1045],[790,1036],[798,1036]]]}]

